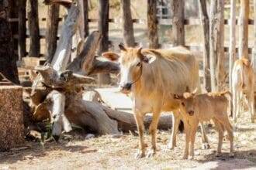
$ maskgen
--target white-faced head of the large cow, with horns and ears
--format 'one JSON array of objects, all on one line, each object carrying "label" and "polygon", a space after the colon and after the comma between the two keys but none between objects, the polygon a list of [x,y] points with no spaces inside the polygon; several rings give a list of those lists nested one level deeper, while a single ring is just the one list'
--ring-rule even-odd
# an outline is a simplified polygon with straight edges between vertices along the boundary
[{"label": "white-faced head of the large cow, with horns and ears", "polygon": [[143,64],[152,63],[156,59],[153,55],[144,55],[142,48],[126,48],[119,45],[121,53],[106,52],[102,56],[111,61],[116,61],[120,65],[120,83],[119,88],[123,93],[130,93],[132,86],[140,79]]}]

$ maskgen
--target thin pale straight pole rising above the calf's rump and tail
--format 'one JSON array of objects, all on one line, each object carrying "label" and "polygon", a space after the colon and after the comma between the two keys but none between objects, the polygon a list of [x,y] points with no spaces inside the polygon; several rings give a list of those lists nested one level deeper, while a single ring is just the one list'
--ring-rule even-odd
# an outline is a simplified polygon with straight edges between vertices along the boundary
[{"label": "thin pale straight pole rising above the calf's rump and tail", "polygon": [[[232,87],[232,69],[236,59],[236,2],[237,0],[231,0],[230,4],[230,68],[229,68],[229,83],[230,90]],[[255,1],[256,2],[256,1]]]}]

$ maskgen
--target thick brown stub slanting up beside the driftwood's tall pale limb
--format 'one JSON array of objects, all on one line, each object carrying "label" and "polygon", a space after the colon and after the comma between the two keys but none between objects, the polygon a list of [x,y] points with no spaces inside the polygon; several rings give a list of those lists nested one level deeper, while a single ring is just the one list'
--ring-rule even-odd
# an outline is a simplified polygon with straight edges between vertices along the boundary
[{"label": "thick brown stub slanting up beside the driftwood's tall pale limb", "polygon": [[92,32],[86,39],[85,45],[78,57],[67,66],[67,70],[74,73],[84,73],[86,75],[92,68],[95,51],[99,46],[101,35],[98,31]]}]

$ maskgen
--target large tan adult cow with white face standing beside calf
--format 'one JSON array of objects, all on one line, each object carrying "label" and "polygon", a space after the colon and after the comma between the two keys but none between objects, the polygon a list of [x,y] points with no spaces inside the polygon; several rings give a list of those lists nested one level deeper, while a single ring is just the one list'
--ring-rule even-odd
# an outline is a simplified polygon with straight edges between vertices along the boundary
[{"label": "large tan adult cow with white face standing beside calf", "polygon": [[[173,128],[170,147],[176,145],[176,134],[180,122],[178,102],[171,93],[182,94],[187,89],[199,87],[199,65],[192,53],[182,46],[171,49],[126,48],[119,45],[117,53],[103,53],[112,61],[119,61],[120,83],[123,93],[131,93],[134,117],[140,136],[140,150],[137,158],[145,156],[144,116],[153,114],[150,124],[151,150],[147,157],[156,153],[157,124],[162,111],[173,111]],[[201,126],[202,127],[202,126]],[[202,127],[203,146],[208,140]]]}]

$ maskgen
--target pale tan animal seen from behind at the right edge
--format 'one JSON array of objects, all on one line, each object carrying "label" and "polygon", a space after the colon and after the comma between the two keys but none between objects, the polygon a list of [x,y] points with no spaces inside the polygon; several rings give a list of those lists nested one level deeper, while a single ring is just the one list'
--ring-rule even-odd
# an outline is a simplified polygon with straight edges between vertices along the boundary
[{"label": "pale tan animal seen from behind at the right edge", "polygon": [[248,59],[237,59],[232,70],[233,119],[242,111],[243,96],[249,107],[251,122],[254,122],[254,70]]}]

